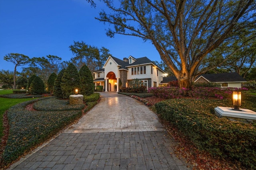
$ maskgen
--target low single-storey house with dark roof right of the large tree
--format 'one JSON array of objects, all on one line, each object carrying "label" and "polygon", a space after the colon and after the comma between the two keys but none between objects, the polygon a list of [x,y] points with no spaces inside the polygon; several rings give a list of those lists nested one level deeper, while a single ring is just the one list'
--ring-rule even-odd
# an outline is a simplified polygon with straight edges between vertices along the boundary
[{"label": "low single-storey house with dark roof right of the large tree", "polygon": [[246,80],[236,72],[224,72],[218,74],[202,74],[195,82],[214,82],[221,84],[221,87],[241,88],[242,82]]}]

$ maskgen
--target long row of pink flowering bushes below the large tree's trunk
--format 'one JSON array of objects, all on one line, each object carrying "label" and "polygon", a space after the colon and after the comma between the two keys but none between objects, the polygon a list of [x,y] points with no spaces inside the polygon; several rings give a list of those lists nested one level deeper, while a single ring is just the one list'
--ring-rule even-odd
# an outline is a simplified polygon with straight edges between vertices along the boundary
[{"label": "long row of pink flowering bushes below the large tree's trunk", "polygon": [[165,99],[191,97],[197,99],[218,98],[228,99],[231,98],[232,91],[248,90],[247,88],[220,88],[220,87],[196,87],[192,90],[178,87],[153,87],[148,88],[149,93],[154,96]]}]

